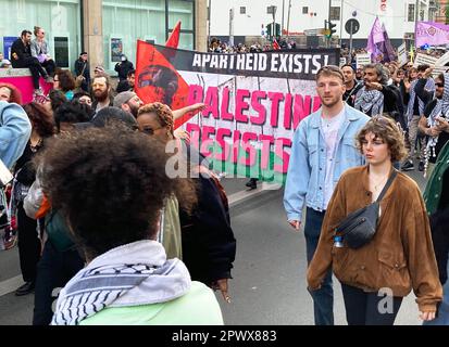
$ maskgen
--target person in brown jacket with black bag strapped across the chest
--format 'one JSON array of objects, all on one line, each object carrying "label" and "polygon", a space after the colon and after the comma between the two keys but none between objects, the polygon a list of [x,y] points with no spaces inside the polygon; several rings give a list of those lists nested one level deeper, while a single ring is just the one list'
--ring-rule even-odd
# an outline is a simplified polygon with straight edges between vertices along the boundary
[{"label": "person in brown jacket with black bag strapped across the chest", "polygon": [[367,165],[347,170],[334,191],[308,269],[309,291],[321,287],[332,267],[341,283],[349,325],[392,325],[411,288],[420,318],[431,321],[442,288],[424,201],[412,179],[397,174],[381,201],[377,230],[367,244],[353,249],[345,239],[342,244],[334,243],[338,223],[377,200],[394,170],[392,163],[407,154],[401,131],[385,116],[373,117],[357,143]]}]

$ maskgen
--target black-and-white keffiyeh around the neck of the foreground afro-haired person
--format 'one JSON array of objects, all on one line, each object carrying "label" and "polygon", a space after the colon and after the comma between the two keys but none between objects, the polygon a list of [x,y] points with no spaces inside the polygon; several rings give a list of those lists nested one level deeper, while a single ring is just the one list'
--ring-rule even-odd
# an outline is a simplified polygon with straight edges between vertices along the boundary
[{"label": "black-and-white keffiyeh around the neck of the foreground afro-haired person", "polygon": [[139,241],[107,252],[61,291],[52,325],[76,325],[108,307],[165,303],[185,295],[190,275],[179,259],[166,260],[163,246]]}]

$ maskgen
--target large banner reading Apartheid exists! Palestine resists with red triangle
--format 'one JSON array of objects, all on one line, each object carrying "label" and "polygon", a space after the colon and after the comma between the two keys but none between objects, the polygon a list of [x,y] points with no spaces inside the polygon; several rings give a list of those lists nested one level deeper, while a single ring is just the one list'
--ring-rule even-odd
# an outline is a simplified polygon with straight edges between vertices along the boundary
[{"label": "large banner reading Apartheid exists! Palestine resists with red triangle", "polygon": [[136,92],[173,110],[207,107],[175,121],[213,169],[283,183],[295,129],[320,108],[315,76],[336,49],[215,54],[138,41]]}]

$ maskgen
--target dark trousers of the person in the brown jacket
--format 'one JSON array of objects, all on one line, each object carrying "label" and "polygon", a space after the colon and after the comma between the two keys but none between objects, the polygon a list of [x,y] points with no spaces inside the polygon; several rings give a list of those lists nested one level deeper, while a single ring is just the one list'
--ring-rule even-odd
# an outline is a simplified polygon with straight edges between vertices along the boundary
[{"label": "dark trousers of the person in the brown jacket", "polygon": [[[402,304],[401,297],[365,293],[344,283],[341,283],[341,290],[349,325],[392,325],[395,323]],[[387,304],[386,300],[391,301]]]}]

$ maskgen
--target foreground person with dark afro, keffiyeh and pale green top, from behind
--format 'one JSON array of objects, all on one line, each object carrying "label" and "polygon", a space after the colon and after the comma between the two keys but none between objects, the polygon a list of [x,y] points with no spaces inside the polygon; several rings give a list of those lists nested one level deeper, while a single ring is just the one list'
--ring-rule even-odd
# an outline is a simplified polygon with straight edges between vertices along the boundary
[{"label": "foreground person with dark afro, keffiyeh and pale green top, from behind", "polygon": [[167,159],[161,143],[117,125],[48,147],[43,192],[87,261],[60,292],[52,324],[223,324],[212,291],[154,241],[165,198],[188,209],[196,201],[191,182],[166,176]]}]

